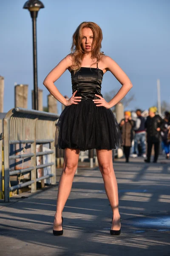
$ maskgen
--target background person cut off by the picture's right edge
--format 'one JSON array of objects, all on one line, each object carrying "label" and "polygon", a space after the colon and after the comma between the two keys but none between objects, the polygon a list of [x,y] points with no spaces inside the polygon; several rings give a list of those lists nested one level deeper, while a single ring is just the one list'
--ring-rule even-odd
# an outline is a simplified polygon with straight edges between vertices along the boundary
[{"label": "background person cut off by the picture's right edge", "polygon": [[164,113],[164,128],[161,131],[162,137],[162,149],[165,152],[166,159],[170,158],[170,113],[165,111]]}]

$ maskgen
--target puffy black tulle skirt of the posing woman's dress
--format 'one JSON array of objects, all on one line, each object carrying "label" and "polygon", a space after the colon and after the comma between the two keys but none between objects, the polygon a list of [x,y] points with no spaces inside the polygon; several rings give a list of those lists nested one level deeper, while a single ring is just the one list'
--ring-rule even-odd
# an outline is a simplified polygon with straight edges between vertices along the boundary
[{"label": "puffy black tulle skirt of the posing woman's dress", "polygon": [[111,109],[85,100],[65,107],[59,116],[55,134],[58,148],[111,150],[121,144],[119,125]]}]

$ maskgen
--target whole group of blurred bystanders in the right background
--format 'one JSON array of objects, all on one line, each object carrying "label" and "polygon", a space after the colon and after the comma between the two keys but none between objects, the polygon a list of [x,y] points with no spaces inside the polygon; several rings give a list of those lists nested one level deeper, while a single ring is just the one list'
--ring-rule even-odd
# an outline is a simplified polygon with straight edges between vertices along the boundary
[{"label": "whole group of blurred bystanders in the right background", "polygon": [[137,109],[135,114],[125,111],[119,128],[127,163],[130,156],[142,156],[145,162],[150,163],[153,145],[153,163],[157,162],[161,150],[167,159],[170,158],[170,112],[166,111],[164,118],[156,112],[157,108],[151,107],[148,116],[144,117],[141,109]]}]

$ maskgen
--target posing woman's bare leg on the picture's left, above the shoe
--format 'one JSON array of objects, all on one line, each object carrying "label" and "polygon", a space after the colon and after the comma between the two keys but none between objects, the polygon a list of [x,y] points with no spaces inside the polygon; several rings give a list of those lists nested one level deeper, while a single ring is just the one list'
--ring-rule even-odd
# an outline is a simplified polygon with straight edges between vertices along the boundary
[{"label": "posing woman's bare leg on the picture's left, above the shoe", "polygon": [[77,170],[79,150],[65,148],[62,175],[59,179],[57,209],[54,217],[53,230],[62,230],[62,211],[71,192],[74,174]]}]

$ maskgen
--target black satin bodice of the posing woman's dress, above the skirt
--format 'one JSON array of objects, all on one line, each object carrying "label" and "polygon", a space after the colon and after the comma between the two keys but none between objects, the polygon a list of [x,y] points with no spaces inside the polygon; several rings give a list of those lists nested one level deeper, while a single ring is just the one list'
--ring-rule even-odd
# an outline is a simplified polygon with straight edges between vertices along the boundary
[{"label": "black satin bodice of the posing woman's dress, above the skirt", "polygon": [[[75,74],[71,71],[71,82],[75,96],[82,96],[81,100],[99,99],[95,94],[102,96],[101,85],[103,71],[95,67],[81,67]],[[103,96],[102,96],[103,97]]]}]

